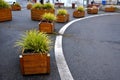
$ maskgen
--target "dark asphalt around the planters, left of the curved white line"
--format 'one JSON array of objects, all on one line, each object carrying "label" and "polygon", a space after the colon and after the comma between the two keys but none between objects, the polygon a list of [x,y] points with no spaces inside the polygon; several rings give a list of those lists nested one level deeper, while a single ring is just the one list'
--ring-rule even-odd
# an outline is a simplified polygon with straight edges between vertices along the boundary
[{"label": "dark asphalt around the planters, left of the curved white line", "polygon": [[[12,11],[12,21],[0,22],[0,80],[60,80],[54,59],[53,49],[51,54],[51,73],[48,75],[23,76],[20,71],[18,48],[15,41],[24,31],[38,29],[40,21],[32,21],[30,11],[23,8],[21,11]],[[55,39],[55,35],[51,35]]]}]

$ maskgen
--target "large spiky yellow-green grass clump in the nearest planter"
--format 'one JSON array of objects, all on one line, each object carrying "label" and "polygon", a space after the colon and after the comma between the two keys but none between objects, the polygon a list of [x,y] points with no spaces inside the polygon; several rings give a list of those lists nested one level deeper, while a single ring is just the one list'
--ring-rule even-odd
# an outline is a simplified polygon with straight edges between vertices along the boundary
[{"label": "large spiky yellow-green grass clump in the nearest planter", "polygon": [[37,30],[26,31],[15,44],[15,46],[24,49],[25,52],[40,54],[48,53],[51,48],[51,40],[47,34]]}]

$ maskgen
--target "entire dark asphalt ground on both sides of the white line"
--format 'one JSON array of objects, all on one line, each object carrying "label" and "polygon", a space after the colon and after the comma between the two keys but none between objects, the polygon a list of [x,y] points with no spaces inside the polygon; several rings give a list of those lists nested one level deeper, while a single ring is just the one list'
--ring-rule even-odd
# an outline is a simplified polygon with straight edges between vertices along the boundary
[{"label": "entire dark asphalt ground on both sides of the white line", "polygon": [[[68,9],[70,21],[75,19],[72,17],[73,10]],[[120,79],[119,16],[77,21],[62,35],[63,54],[74,80]],[[25,8],[22,11],[13,11],[12,21],[0,23],[0,80],[61,80],[54,49],[50,51],[50,75],[21,75],[18,57],[20,52],[14,47],[14,42],[25,30],[38,29],[38,23],[39,21],[30,19],[30,11]],[[55,32],[59,32],[65,24],[56,23]],[[50,36],[55,41],[57,35]]]}]

